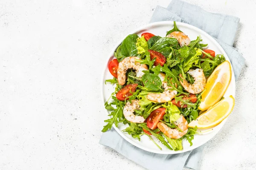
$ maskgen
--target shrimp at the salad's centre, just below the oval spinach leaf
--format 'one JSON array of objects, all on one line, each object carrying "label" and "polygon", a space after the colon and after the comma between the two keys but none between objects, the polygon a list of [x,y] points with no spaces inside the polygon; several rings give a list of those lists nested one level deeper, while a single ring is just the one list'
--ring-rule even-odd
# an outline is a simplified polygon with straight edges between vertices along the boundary
[{"label": "shrimp at the salad's centre, just below the oval spinach leaf", "polygon": [[164,81],[165,76],[166,75],[163,73],[158,74],[158,77],[160,77],[160,79],[162,81],[162,86],[164,88],[164,92],[160,93],[160,94],[159,93],[150,93],[147,95],[148,100],[151,100],[153,102],[165,103],[165,102],[171,101],[175,97],[175,95],[177,94],[177,91],[168,90],[171,87],[167,86],[167,82]]}]

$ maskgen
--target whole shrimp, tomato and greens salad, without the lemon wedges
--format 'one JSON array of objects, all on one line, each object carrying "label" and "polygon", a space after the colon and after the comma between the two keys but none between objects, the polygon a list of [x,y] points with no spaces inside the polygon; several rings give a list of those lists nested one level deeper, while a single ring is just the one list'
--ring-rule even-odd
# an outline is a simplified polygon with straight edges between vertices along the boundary
[{"label": "whole shrimp, tomato and greens salad, without the lemon wedges", "polygon": [[182,150],[183,140],[191,146],[197,127],[188,123],[198,117],[207,77],[225,61],[201,41],[191,41],[175,22],[165,37],[128,35],[108,65],[113,79],[105,83],[116,88],[105,102],[111,118],[102,132],[123,123],[124,133],[139,141],[146,135],[159,149],[157,139],[170,150]]}]

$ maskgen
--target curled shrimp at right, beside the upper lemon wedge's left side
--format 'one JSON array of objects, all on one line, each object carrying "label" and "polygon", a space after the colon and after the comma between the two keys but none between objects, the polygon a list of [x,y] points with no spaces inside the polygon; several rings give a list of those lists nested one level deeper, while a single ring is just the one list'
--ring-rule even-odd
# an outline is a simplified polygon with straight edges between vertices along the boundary
[{"label": "curled shrimp at right, beside the upper lemon wedge's left side", "polygon": [[190,69],[187,73],[194,78],[195,82],[193,84],[190,84],[180,74],[180,77],[181,77],[180,83],[183,86],[183,88],[185,88],[186,91],[192,94],[201,93],[204,90],[205,83],[206,83],[203,69],[201,68],[197,68],[195,70]]}]

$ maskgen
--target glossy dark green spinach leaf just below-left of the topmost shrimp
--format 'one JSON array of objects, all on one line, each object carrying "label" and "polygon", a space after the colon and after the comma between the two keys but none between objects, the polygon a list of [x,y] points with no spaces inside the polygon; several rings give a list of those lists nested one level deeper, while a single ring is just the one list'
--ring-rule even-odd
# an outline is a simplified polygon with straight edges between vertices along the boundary
[{"label": "glossy dark green spinach leaf just below-left of the topmost shrimp", "polygon": [[163,37],[157,40],[157,42],[150,48],[151,50],[159,51],[165,47],[178,46],[178,41],[175,38]]}]

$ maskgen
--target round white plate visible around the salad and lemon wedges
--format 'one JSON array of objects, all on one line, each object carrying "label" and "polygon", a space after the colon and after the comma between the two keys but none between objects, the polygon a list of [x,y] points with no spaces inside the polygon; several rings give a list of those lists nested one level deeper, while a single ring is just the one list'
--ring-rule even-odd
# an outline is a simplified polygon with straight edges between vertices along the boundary
[{"label": "round white plate visible around the salad and lemon wedges", "polygon": [[[202,31],[199,28],[196,28],[196,27],[191,26],[186,23],[176,22],[176,24],[180,30],[182,30],[186,35],[189,36],[190,40],[195,40],[197,38],[197,36],[200,35],[203,40],[203,43],[208,44],[209,49],[215,51],[215,54],[223,54],[224,57],[226,58],[226,60],[230,61],[230,59],[228,58],[228,56],[225,53],[225,51],[223,50],[223,48],[221,48],[221,46],[218,44],[218,42],[216,42],[209,34],[207,34],[206,32]],[[173,25],[172,21],[163,21],[163,22],[151,23],[146,26],[143,26],[143,27],[137,29],[136,31],[131,32],[131,34],[138,34],[139,36],[141,36],[141,34],[144,32],[150,32],[154,35],[159,35],[161,37],[165,37],[166,31],[171,30],[173,27],[174,27],[174,25]],[[102,82],[101,82],[102,99],[103,99],[102,105],[108,100],[109,96],[114,91],[114,85],[110,85],[110,83],[107,83],[107,85],[105,85],[106,79],[113,79],[113,76],[108,71],[108,63],[114,58],[113,57],[114,51],[116,51],[116,48],[122,43],[122,41],[125,39],[125,37],[123,37],[122,40],[120,40],[120,42],[116,43],[116,45],[112,49],[111,53],[107,56],[108,60],[105,63],[104,73],[103,73]],[[226,93],[224,94],[224,97],[230,96],[230,95],[235,96],[235,88],[236,88],[235,87],[235,76],[234,76],[234,71],[232,68],[231,82],[230,82],[230,85],[229,85]],[[107,110],[105,110],[105,111],[107,114],[110,113]],[[183,153],[183,152],[195,149],[195,148],[201,146],[202,144],[206,143],[207,141],[212,139],[216,135],[216,133],[218,133],[218,131],[224,125],[226,120],[227,119],[222,121],[218,126],[214,127],[213,130],[211,130],[211,133],[207,133],[204,135],[195,135],[195,139],[192,140],[192,142],[193,142],[192,146],[189,145],[189,142],[187,142],[186,139],[183,139],[183,141],[182,141],[183,150],[179,150],[179,151],[169,150],[166,146],[164,146],[161,142],[159,142],[156,138],[154,138],[154,136],[152,136],[152,138],[155,141],[157,141],[157,144],[159,144],[163,150],[160,150],[148,138],[148,136],[145,136],[145,135],[141,136],[140,141],[138,141],[137,139],[134,139],[133,137],[128,135],[128,133],[122,132],[122,130],[125,129],[128,125],[123,125],[122,123],[119,123],[118,127],[116,127],[115,125],[113,125],[113,127],[125,140],[127,140],[131,144],[139,147],[140,149],[143,149],[143,150],[146,150],[149,152],[153,152],[153,153],[175,154],[175,153]]]}]

